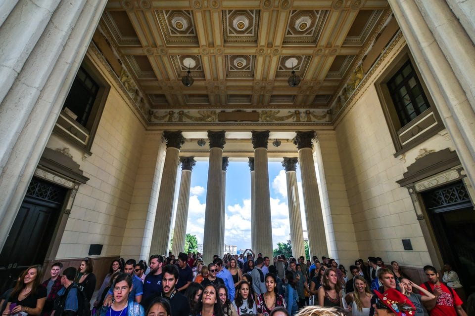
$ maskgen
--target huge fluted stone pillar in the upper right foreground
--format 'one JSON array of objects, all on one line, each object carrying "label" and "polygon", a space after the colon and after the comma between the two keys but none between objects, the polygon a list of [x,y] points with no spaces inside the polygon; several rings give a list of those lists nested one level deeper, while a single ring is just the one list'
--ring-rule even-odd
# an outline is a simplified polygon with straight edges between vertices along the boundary
[{"label": "huge fluted stone pillar in the upper right foreground", "polygon": [[463,16],[455,15],[466,12],[464,8],[470,4],[450,0],[452,11],[446,1],[430,4],[416,0],[388,2],[454,142],[457,156],[474,186],[475,64],[474,42],[469,37],[473,32]]}]

